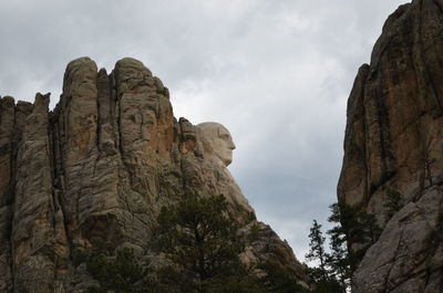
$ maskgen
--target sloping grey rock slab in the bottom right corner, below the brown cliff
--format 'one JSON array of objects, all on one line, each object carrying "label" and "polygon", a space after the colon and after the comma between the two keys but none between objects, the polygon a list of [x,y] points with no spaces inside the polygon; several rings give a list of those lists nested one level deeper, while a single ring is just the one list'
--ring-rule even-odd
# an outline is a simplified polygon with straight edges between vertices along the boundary
[{"label": "sloping grey rock slab in the bottom right corner, below the brown cliff", "polygon": [[426,189],[388,222],[354,274],[356,292],[443,292],[434,284],[443,273],[442,192]]}]

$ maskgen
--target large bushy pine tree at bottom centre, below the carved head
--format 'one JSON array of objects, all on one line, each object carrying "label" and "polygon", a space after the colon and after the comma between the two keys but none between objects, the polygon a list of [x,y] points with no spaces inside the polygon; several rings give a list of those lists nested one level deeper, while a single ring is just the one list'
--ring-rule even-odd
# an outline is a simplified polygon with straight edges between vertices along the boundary
[{"label": "large bushy pine tree at bottom centre, below the carved head", "polygon": [[168,292],[260,292],[239,261],[245,244],[224,196],[185,196],[158,223],[156,248],[173,263],[161,273]]}]

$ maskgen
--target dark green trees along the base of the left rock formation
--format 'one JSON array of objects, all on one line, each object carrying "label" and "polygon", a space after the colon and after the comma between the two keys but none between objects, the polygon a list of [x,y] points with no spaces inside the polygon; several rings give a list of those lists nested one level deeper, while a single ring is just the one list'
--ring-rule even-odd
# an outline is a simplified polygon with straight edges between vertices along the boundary
[{"label": "dark green trees along the base of the left rock formation", "polygon": [[[162,209],[151,250],[162,264],[141,262],[131,249],[99,247],[80,253],[94,285],[85,293],[305,293],[271,262],[247,268],[239,259],[245,240],[227,214],[224,196],[184,196]],[[254,228],[254,226],[253,226]],[[257,273],[260,272],[260,273]]]}]

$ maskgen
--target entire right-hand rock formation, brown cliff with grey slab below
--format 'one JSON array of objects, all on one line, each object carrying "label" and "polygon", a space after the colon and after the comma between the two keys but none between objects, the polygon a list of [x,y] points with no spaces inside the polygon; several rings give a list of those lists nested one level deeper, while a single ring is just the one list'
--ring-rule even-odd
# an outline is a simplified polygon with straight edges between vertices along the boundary
[{"label": "entire right-hand rock formation, brown cliff with grey slab below", "polygon": [[[443,1],[413,0],[389,17],[348,101],[338,197],[384,228],[356,293],[443,292],[442,81]],[[393,190],[403,207],[389,217]]]}]

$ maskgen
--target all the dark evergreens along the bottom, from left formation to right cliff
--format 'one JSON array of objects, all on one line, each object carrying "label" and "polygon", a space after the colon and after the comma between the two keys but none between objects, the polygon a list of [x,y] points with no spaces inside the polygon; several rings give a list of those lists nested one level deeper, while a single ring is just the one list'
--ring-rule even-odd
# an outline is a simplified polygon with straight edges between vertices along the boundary
[{"label": "all the dark evergreens along the bottom, from left formation to right cliff", "polygon": [[[402,195],[388,190],[387,219],[402,206]],[[142,262],[132,249],[112,251],[104,245],[73,258],[76,264],[85,263],[94,279],[85,293],[346,293],[352,273],[381,229],[372,213],[340,202],[331,205],[330,210],[328,221],[333,227],[327,231],[329,250],[322,226],[313,220],[310,229],[306,260],[317,265],[306,265],[309,290],[276,263],[248,268],[240,261],[245,237],[239,234],[238,223],[228,218],[224,196],[188,195],[161,210],[150,243],[150,250],[162,255],[161,263]],[[251,236],[255,229],[253,224]]]}]

